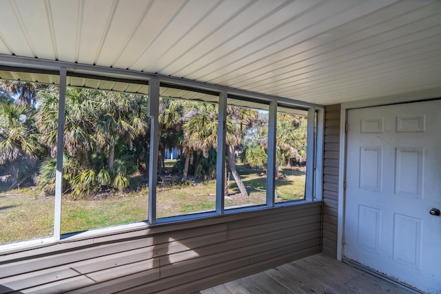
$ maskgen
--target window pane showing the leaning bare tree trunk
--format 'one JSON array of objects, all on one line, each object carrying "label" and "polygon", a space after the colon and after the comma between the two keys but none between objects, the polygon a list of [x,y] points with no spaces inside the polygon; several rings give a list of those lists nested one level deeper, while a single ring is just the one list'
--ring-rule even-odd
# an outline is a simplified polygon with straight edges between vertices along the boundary
[{"label": "window pane showing the leaning bare tree trunk", "polygon": [[268,111],[229,105],[226,137],[225,209],[266,204]]}]

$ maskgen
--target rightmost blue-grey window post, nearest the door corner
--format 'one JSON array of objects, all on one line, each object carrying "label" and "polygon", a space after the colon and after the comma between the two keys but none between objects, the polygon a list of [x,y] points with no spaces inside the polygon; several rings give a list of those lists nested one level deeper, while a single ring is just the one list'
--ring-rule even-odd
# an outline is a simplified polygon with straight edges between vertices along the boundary
[{"label": "rightmost blue-grey window post, nearest the door corner", "polygon": [[307,145],[306,145],[306,187],[305,199],[312,201],[314,198],[314,150],[315,146],[315,123],[316,123],[316,109],[314,107],[308,108],[307,120]]}]

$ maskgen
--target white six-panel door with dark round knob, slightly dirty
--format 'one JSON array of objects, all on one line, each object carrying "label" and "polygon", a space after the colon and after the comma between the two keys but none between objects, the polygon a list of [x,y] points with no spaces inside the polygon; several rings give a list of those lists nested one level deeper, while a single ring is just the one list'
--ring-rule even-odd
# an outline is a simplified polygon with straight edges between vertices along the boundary
[{"label": "white six-panel door with dark round knob, slightly dirty", "polygon": [[345,258],[441,293],[441,101],[347,118]]}]

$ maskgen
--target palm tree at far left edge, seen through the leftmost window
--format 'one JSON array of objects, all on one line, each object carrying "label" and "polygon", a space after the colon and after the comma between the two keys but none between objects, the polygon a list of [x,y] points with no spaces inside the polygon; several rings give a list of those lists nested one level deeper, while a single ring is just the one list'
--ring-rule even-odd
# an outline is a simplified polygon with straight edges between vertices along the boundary
[{"label": "palm tree at far left edge, seen through the leftmost window", "polygon": [[1,182],[9,189],[19,187],[32,176],[43,148],[34,124],[34,109],[9,101],[0,103],[0,165],[6,165]]}]

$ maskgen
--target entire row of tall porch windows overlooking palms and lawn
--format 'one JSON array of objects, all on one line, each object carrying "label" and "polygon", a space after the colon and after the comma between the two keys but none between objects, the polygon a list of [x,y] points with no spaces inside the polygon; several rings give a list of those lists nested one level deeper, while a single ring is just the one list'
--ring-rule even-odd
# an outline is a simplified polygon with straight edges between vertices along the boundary
[{"label": "entire row of tall porch windows overlooking palms and lawn", "polygon": [[0,82],[0,243],[314,200],[314,108],[67,81]]}]

